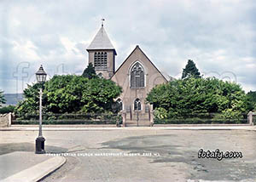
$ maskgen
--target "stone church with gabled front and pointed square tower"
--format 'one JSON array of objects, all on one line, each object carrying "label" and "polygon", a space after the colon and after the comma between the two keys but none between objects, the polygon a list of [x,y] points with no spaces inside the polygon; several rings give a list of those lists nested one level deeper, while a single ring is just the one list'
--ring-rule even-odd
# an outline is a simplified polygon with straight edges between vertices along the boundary
[{"label": "stone church with gabled front and pointed square tower", "polygon": [[150,126],[153,108],[145,102],[147,94],[154,86],[168,82],[170,78],[164,77],[138,45],[115,71],[117,52],[103,24],[86,50],[88,62],[94,65],[96,74],[111,79],[122,88],[117,101],[122,105],[123,125]]}]

